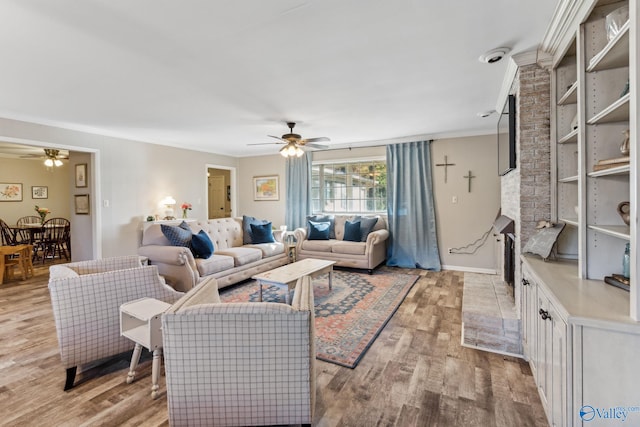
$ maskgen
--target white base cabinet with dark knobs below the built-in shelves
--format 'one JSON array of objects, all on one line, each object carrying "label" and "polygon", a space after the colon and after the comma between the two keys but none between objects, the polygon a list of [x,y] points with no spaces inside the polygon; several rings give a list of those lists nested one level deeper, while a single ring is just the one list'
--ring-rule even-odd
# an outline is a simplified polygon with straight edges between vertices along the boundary
[{"label": "white base cabinet with dark knobs below the built-in shelves", "polygon": [[[640,324],[628,293],[578,278],[575,261],[522,257],[522,322],[549,425],[640,425]],[[616,423],[616,421],[618,423]]]}]

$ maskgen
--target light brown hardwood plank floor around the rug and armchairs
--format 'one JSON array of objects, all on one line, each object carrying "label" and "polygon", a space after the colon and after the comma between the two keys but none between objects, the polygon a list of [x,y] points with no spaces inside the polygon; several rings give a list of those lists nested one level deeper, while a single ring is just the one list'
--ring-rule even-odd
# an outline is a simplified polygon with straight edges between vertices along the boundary
[{"label": "light brown hardwood plank floor around the rug and armchairs", "polygon": [[[526,362],[460,345],[462,273],[384,269],[422,277],[355,369],[318,361],[314,425],[547,425]],[[128,353],[62,390],[47,279],[0,285],[0,425],[168,425],[146,351],[133,384]]]}]

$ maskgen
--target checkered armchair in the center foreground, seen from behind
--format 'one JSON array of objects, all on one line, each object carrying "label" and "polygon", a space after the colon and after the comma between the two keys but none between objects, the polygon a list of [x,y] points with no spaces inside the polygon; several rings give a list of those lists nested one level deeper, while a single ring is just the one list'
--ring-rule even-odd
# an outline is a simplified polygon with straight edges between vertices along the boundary
[{"label": "checkered armchair in the center foreground, seen from behind", "polygon": [[315,406],[313,290],[291,306],[221,303],[215,279],[162,316],[169,422],[174,426],[311,424]]}]

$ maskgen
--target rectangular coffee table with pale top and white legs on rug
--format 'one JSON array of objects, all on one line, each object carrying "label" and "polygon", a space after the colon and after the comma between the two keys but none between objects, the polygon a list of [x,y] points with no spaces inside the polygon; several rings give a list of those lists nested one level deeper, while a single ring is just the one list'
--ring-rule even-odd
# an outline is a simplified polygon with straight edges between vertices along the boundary
[{"label": "rectangular coffee table with pale top and white legs on rug", "polygon": [[315,277],[322,273],[329,273],[329,289],[333,280],[333,264],[335,261],[324,259],[306,258],[291,264],[283,265],[271,271],[256,274],[252,277],[258,281],[258,301],[262,301],[262,285],[275,285],[286,288],[285,302],[289,304],[289,293],[296,286],[296,281],[303,276]]}]

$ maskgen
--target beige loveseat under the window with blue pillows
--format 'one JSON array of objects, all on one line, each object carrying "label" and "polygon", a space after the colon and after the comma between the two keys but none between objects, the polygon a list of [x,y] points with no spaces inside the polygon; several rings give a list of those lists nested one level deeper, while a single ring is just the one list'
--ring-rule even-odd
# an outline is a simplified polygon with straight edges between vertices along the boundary
[{"label": "beige loveseat under the window with blue pillows", "polygon": [[[307,229],[297,228],[294,231],[296,259],[326,259],[335,261],[338,267],[361,268],[372,273],[373,269],[387,258],[387,239],[389,238],[387,220],[379,216],[365,242],[345,241],[345,223],[353,218],[353,215],[333,216],[335,238],[329,240],[309,240]],[[368,217],[365,216],[365,218]]]}]

